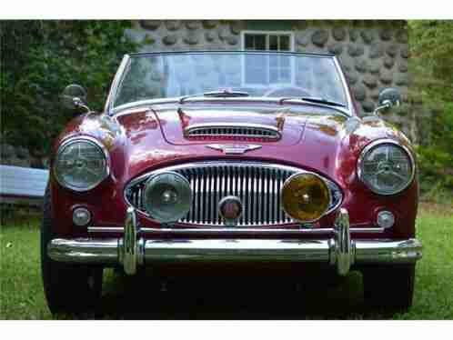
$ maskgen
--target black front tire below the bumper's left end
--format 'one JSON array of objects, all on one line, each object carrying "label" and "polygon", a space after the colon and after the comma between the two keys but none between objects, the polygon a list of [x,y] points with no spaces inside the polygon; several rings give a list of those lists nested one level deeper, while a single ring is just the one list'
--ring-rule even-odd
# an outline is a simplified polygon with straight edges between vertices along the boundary
[{"label": "black front tire below the bumper's left end", "polygon": [[45,298],[52,314],[94,311],[102,293],[102,267],[67,265],[47,255],[47,244],[54,238],[49,186],[45,189],[41,225],[41,273]]}]

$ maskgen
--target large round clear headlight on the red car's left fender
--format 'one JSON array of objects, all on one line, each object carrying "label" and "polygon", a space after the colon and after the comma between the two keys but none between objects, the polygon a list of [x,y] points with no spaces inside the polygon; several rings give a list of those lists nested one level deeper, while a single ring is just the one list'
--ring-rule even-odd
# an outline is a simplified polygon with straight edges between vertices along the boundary
[{"label": "large round clear headlight on the red car's left fender", "polygon": [[92,139],[69,140],[58,148],[54,170],[60,185],[75,191],[90,190],[108,175],[106,150]]}]

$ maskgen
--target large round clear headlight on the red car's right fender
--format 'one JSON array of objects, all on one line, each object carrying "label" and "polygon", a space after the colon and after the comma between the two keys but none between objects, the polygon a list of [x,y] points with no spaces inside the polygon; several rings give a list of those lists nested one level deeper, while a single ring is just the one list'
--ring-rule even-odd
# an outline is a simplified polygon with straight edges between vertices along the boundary
[{"label": "large round clear headlight on the red car's right fender", "polygon": [[377,141],[362,151],[357,174],[376,194],[395,195],[410,185],[414,167],[414,160],[406,147],[394,141]]}]

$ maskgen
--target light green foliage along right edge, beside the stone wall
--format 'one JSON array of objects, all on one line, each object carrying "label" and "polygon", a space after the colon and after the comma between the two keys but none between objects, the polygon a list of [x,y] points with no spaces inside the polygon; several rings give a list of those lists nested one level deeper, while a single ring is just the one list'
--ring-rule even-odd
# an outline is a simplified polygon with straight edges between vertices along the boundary
[{"label": "light green foliage along right edge, beside the stone wall", "polygon": [[410,96],[414,109],[421,103],[431,113],[418,127],[418,165],[422,194],[432,197],[453,189],[453,21],[409,21],[408,28]]}]

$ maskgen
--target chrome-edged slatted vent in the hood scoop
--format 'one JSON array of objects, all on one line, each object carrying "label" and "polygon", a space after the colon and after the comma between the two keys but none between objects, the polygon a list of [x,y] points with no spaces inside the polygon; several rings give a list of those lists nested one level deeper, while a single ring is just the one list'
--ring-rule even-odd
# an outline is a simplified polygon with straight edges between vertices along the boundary
[{"label": "chrome-edged slatted vent in the hood scoop", "polygon": [[276,127],[249,124],[203,124],[185,129],[186,137],[235,137],[278,140],[281,137]]}]

